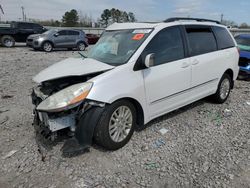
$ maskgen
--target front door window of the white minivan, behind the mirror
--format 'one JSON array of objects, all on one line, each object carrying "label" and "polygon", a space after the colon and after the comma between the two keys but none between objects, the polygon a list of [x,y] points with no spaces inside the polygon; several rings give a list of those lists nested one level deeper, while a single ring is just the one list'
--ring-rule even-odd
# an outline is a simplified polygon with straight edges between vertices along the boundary
[{"label": "front door window of the white minivan, behind the mirror", "polygon": [[155,65],[183,59],[184,47],[179,27],[166,28],[156,34],[142,53],[142,58],[150,53],[155,54]]}]

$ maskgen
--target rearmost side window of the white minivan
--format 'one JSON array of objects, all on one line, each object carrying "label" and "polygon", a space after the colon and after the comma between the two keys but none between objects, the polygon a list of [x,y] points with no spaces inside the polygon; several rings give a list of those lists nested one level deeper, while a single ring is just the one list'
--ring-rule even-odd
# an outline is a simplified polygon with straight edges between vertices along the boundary
[{"label": "rearmost side window of the white minivan", "polygon": [[213,27],[219,50],[234,47],[234,41],[228,31],[223,27]]}]

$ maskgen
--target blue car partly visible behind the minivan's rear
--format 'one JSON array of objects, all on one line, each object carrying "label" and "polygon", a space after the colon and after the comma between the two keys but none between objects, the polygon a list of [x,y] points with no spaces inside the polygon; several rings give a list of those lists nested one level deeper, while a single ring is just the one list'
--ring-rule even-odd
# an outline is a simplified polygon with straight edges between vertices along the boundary
[{"label": "blue car partly visible behind the minivan's rear", "polygon": [[241,34],[235,37],[240,49],[239,59],[239,78],[245,79],[250,77],[250,34]]}]

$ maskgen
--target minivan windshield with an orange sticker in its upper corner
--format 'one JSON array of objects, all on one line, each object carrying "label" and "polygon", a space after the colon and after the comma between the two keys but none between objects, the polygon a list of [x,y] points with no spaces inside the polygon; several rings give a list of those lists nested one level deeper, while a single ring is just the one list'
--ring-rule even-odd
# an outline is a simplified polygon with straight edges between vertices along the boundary
[{"label": "minivan windshield with an orange sticker in its upper corner", "polygon": [[152,29],[106,31],[88,53],[89,58],[118,66],[126,63]]}]

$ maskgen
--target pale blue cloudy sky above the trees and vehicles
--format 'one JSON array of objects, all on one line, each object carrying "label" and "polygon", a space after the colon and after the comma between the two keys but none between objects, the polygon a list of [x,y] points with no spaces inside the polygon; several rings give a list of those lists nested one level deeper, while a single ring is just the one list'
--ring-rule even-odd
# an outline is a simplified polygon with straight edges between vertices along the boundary
[{"label": "pale blue cloudy sky above the trees and vehicles", "polygon": [[2,21],[20,20],[21,7],[27,18],[61,20],[71,9],[81,11],[93,19],[100,17],[104,9],[118,8],[133,12],[138,21],[162,21],[169,17],[190,16],[224,19],[250,24],[249,0],[0,0],[4,10]]}]

